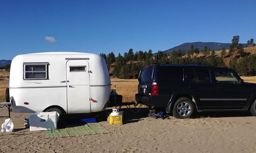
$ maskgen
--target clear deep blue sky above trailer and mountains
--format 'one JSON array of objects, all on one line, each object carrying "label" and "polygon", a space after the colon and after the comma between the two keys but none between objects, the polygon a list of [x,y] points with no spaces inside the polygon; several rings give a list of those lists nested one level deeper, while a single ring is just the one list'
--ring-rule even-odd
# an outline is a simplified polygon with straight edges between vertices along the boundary
[{"label": "clear deep blue sky above trailer and mountains", "polygon": [[[24,53],[153,53],[256,41],[255,0],[0,0],[0,60]],[[49,42],[46,36],[57,42]]]}]

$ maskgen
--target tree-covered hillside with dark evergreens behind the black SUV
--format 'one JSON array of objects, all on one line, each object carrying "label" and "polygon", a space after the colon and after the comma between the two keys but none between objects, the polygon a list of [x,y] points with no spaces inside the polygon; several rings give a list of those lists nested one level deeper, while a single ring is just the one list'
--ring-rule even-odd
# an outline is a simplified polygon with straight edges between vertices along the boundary
[{"label": "tree-covered hillside with dark evergreens behind the black SUV", "polygon": [[[243,45],[239,43],[239,36],[233,36],[232,43],[228,50],[225,47],[221,49],[221,55],[217,56],[215,50],[210,50],[207,46],[199,50],[191,45],[190,49],[186,51],[173,50],[171,55],[167,55],[162,51],[153,57],[152,50],[136,51],[130,49],[128,53],[122,56],[120,53],[116,57],[113,52],[106,55],[100,55],[106,60],[110,75],[121,79],[137,79],[139,71],[143,66],[156,63],[165,64],[203,64],[217,67],[228,67],[236,70],[239,75],[252,76],[256,75],[256,54],[244,51]],[[247,41],[246,48],[253,48],[256,50],[254,39]],[[229,62],[225,64],[225,60]]]}]

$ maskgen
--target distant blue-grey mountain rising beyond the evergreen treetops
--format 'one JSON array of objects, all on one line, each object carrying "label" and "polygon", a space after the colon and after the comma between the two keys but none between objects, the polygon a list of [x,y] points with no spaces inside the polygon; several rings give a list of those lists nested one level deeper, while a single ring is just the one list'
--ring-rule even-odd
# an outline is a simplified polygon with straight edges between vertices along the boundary
[{"label": "distant blue-grey mountain rising beyond the evergreen treetops", "polygon": [[[176,47],[173,47],[171,49],[167,49],[163,52],[165,52],[166,54],[171,55],[171,52],[173,50],[178,51],[179,49],[181,51],[188,51],[188,49],[190,49],[191,45],[194,45],[194,48],[198,48],[200,51],[202,49],[204,49],[205,46],[207,46],[208,49],[214,49],[215,51],[219,51],[221,50],[222,47],[225,47],[226,49],[228,49],[230,43],[215,43],[215,42],[208,42],[208,43],[203,43],[203,42],[194,42],[194,43],[184,43],[181,45],[178,45]],[[245,46],[245,44],[242,44],[243,46]],[[153,56],[156,55],[156,53],[153,54]]]}]

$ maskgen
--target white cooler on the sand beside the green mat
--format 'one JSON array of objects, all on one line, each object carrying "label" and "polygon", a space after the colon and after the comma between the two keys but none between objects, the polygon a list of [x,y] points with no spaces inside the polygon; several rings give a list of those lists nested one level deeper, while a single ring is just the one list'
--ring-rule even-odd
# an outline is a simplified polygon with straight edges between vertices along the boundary
[{"label": "white cooler on the sand beside the green mat", "polygon": [[30,131],[57,129],[57,112],[31,113],[29,115]]}]

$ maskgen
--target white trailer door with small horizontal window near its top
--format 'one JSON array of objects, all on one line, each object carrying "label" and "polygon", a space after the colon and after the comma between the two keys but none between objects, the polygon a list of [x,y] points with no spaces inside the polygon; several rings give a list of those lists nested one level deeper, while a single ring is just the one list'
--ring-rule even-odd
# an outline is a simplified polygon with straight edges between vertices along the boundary
[{"label": "white trailer door with small horizontal window near its top", "polygon": [[67,60],[67,113],[90,113],[89,62]]}]

